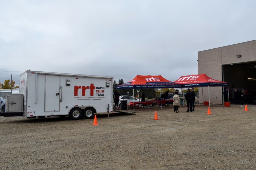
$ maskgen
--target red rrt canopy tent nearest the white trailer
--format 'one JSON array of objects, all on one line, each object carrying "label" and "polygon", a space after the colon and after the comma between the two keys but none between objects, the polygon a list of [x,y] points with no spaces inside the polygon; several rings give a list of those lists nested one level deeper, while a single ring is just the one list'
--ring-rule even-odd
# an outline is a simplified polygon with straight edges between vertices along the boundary
[{"label": "red rrt canopy tent nearest the white trailer", "polygon": [[118,85],[117,89],[181,88],[182,85],[163,78],[161,75],[137,75],[131,81]]}]

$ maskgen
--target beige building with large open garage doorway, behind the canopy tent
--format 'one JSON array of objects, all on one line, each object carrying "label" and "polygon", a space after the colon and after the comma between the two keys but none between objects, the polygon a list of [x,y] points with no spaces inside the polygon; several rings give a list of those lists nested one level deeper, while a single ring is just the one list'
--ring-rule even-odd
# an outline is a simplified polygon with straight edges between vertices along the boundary
[{"label": "beige building with large open garage doorway, behind the canopy tent", "polygon": [[[256,88],[256,40],[198,52],[198,74],[229,83],[230,100],[235,88]],[[203,90],[203,93],[202,93]],[[223,104],[223,87],[199,87],[199,103]],[[203,94],[203,95],[202,95]]]}]

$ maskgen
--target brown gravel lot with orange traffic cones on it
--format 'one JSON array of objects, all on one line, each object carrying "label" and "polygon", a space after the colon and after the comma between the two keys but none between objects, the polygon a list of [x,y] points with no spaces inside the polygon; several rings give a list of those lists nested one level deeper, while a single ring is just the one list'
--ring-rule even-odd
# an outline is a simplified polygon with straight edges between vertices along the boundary
[{"label": "brown gravel lot with orange traffic cones on it", "polygon": [[153,107],[97,115],[99,125],[0,117],[0,169],[256,169],[256,106],[244,109]]}]

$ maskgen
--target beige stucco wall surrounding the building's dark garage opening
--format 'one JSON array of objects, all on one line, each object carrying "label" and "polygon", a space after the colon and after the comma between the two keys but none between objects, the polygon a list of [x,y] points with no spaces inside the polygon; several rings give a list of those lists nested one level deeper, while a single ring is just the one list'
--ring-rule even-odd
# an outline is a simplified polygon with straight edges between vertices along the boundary
[{"label": "beige stucco wall surrounding the building's dark garage opening", "polygon": [[[238,58],[239,54],[241,57]],[[223,81],[222,65],[251,61],[256,61],[256,40],[204,50],[198,52],[198,74],[205,73],[213,79]],[[232,75],[232,73],[229,74]],[[244,73],[241,71],[238,74]],[[224,81],[228,82],[228,80]],[[231,84],[229,87],[232,87]],[[203,103],[203,100],[208,101],[210,95],[210,103],[222,104],[222,89],[222,87],[210,87],[208,94],[208,87],[203,87],[203,93],[202,88],[199,88],[199,103]]]}]

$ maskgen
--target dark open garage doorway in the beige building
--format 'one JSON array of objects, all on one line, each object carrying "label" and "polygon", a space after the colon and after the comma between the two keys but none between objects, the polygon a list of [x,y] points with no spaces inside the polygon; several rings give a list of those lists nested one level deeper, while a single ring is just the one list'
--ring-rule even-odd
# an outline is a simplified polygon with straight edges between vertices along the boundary
[{"label": "dark open garage doorway in the beige building", "polygon": [[250,90],[248,104],[253,103],[254,89],[256,88],[256,61],[223,65],[223,81],[229,83],[230,101],[234,97],[234,91],[242,89]]}]

